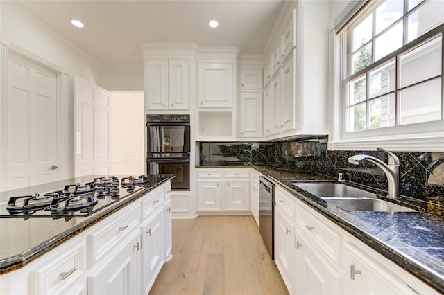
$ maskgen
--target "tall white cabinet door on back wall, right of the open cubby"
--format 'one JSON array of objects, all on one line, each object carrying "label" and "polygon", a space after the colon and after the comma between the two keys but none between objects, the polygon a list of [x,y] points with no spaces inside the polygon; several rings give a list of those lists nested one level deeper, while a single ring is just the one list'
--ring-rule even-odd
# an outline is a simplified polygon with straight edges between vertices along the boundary
[{"label": "tall white cabinet door on back wall, right of the open cubby", "polygon": [[239,138],[262,137],[262,91],[239,93]]}]

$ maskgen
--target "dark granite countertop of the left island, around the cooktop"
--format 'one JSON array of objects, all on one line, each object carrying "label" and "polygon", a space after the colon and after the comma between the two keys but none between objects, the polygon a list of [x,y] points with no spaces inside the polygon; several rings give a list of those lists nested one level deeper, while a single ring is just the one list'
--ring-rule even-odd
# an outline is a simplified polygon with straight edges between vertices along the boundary
[{"label": "dark granite countertop of the left island, around the cooktop", "polygon": [[[174,175],[150,175],[151,181],[148,184],[135,188],[133,193],[126,193],[125,197],[121,195],[122,198],[118,202],[112,202],[110,206],[86,217],[0,218],[0,236],[2,240],[0,243],[0,274],[23,267],[173,177]],[[66,179],[51,184],[2,192],[0,193],[0,204],[4,205],[8,202],[11,195],[30,195],[36,191],[44,192],[60,189],[65,184],[92,181],[94,176],[83,177],[82,179]]]}]

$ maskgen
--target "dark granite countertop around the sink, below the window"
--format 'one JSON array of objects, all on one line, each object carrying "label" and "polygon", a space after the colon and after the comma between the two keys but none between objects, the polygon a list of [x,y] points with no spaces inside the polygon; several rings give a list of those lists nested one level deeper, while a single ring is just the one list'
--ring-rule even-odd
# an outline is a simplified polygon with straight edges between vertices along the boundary
[{"label": "dark granite countertop around the sink, below the window", "polygon": [[[200,166],[202,167],[202,166]],[[207,166],[210,167],[210,166]],[[325,215],[348,233],[409,273],[444,292],[444,205],[402,197],[398,204],[416,208],[418,212],[345,211],[325,200],[293,186],[289,181],[336,181],[296,169],[252,166],[271,178],[302,202]],[[357,184],[343,183],[363,188]],[[381,199],[382,192],[373,190]],[[390,200],[393,202],[393,200]]]}]

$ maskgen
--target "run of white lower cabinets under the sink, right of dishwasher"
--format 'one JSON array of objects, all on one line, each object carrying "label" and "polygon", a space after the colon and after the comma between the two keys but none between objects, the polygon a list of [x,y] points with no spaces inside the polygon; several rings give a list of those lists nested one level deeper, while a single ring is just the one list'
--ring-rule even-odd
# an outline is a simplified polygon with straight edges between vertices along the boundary
[{"label": "run of white lower cabinets under the sink, right of dishwasher", "polygon": [[281,186],[275,262],[290,294],[438,294]]}]

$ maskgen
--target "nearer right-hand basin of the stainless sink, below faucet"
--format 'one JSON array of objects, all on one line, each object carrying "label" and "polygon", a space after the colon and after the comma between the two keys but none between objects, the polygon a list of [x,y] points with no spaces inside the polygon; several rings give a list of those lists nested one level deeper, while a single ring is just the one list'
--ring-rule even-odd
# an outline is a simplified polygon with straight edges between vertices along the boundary
[{"label": "nearer right-hand basin of the stainless sink, below faucet", "polygon": [[345,211],[418,212],[382,199],[325,199]]}]

